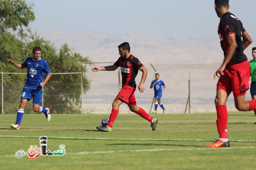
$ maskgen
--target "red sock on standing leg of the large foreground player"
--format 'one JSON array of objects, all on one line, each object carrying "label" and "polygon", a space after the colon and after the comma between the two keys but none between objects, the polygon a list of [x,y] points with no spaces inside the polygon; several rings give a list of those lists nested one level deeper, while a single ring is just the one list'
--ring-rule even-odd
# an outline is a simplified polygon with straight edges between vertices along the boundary
[{"label": "red sock on standing leg of the large foreground player", "polygon": [[218,133],[220,134],[220,138],[228,139],[228,111],[226,105],[216,106],[217,111],[217,128]]}]

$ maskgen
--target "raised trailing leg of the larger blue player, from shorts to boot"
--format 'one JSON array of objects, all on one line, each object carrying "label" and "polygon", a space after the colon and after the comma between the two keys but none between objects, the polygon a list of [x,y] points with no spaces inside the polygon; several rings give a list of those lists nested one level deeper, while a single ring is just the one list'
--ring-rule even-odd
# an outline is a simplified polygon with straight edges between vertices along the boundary
[{"label": "raised trailing leg of the larger blue player, from shorts to boot", "polygon": [[34,89],[34,91],[32,93],[32,97],[33,97],[33,110],[35,112],[44,113],[44,115],[46,117],[46,121],[50,121],[51,114],[50,114],[49,107],[44,108],[44,107],[40,106],[41,101],[42,101],[42,95],[43,95],[43,91],[42,90]]}]

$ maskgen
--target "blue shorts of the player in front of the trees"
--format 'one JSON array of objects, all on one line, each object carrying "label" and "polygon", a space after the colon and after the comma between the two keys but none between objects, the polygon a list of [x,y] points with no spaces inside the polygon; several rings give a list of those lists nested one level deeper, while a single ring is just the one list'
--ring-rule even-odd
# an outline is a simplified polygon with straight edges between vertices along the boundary
[{"label": "blue shorts of the player in front of the trees", "polygon": [[33,98],[33,104],[40,104],[42,102],[43,90],[34,88],[23,88],[21,99],[30,101]]}]

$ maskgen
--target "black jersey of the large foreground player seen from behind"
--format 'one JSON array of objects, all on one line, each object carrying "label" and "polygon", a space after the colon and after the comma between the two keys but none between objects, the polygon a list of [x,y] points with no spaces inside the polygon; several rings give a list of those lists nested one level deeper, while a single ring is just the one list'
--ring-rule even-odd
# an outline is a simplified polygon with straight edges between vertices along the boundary
[{"label": "black jersey of the large foreground player seen from behind", "polygon": [[220,36],[220,45],[224,52],[224,57],[226,57],[228,51],[228,41],[226,40],[226,35],[235,34],[236,35],[236,50],[232,56],[230,63],[228,65],[233,65],[241,63],[247,60],[246,55],[244,54],[244,44],[243,44],[243,33],[245,29],[242,22],[230,12],[226,12],[220,19],[218,34]]}]

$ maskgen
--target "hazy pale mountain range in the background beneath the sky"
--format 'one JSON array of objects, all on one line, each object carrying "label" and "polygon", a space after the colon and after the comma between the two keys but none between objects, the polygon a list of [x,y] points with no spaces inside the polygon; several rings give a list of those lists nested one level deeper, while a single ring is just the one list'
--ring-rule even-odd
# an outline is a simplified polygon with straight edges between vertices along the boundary
[{"label": "hazy pale mountain range in the background beneath the sky", "polygon": [[[154,92],[149,88],[154,79],[154,69],[160,79],[166,83],[162,102],[168,108],[167,113],[184,113],[188,99],[188,79],[190,78],[191,112],[215,112],[214,98],[217,80],[214,72],[223,60],[218,35],[216,39],[196,37],[156,37],[152,35],[122,35],[92,32],[40,31],[40,37],[50,40],[58,49],[67,43],[71,49],[86,57],[89,56],[97,66],[112,65],[119,57],[118,45],[129,42],[131,54],[137,57],[148,70],[145,82],[146,91],[136,90],[138,106],[150,110]],[[251,48],[246,49],[248,59],[252,58]],[[102,63],[98,62],[112,62]],[[152,67],[152,66],[153,67]],[[179,71],[178,71],[179,70]],[[188,70],[191,70],[190,72]],[[87,76],[92,80],[91,89],[83,96],[84,108],[95,113],[108,113],[111,103],[118,92],[118,70],[114,72],[93,73],[88,66]],[[141,74],[136,78],[139,84]],[[116,93],[116,94],[115,94]],[[250,92],[246,99],[250,99]],[[159,112],[162,113],[160,107]],[[228,100],[228,109],[236,110],[232,95]],[[127,113],[126,106],[120,112]],[[187,109],[188,112],[188,109]]]}]

